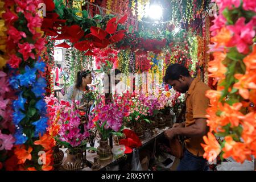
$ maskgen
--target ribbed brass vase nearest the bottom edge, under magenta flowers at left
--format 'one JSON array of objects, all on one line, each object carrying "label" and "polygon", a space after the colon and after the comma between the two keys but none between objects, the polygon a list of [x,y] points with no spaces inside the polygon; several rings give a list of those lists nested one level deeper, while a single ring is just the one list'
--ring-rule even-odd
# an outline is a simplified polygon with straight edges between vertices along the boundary
[{"label": "ribbed brass vase nearest the bottom edge, under magenta flowers at left", "polygon": [[80,171],[81,159],[79,159],[77,154],[68,154],[68,158],[65,160],[63,168],[67,171]]}]

